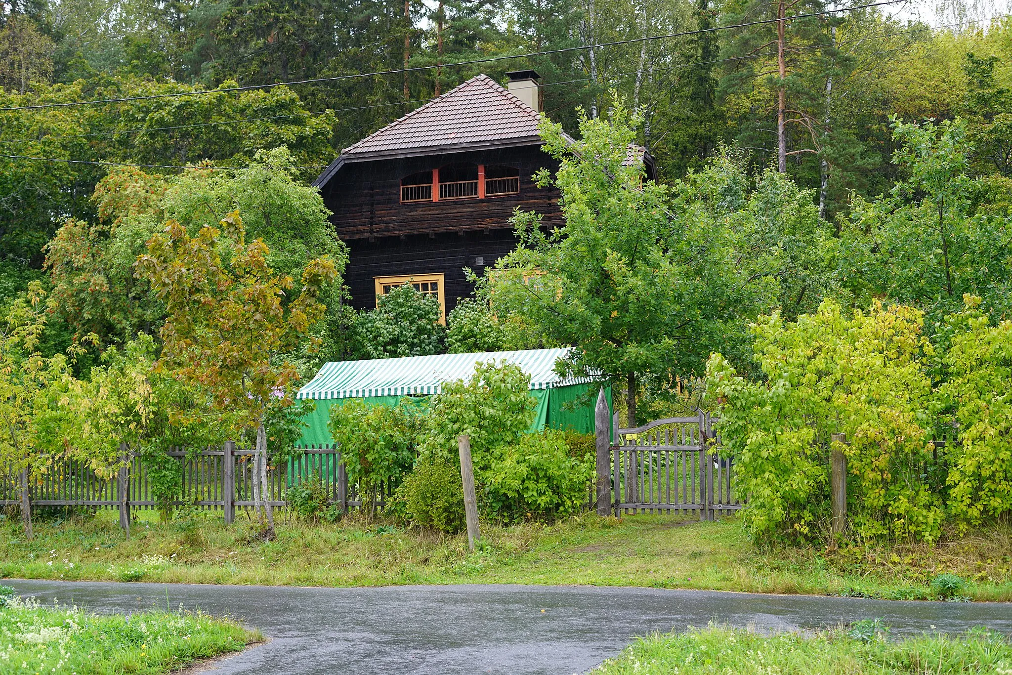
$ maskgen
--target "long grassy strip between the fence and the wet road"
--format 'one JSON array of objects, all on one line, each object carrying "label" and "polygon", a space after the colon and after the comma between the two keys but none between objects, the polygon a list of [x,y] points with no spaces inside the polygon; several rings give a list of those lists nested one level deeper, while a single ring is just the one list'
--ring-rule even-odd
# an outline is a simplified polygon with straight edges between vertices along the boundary
[{"label": "long grassy strip between the fence and the wet road", "polygon": [[[153,514],[152,514],[153,515]],[[483,524],[474,554],[467,536],[392,524],[279,523],[263,542],[249,524],[215,514],[139,521],[123,537],[115,513],[38,522],[26,541],[0,524],[0,575],[207,584],[368,586],[518,583],[653,586],[761,593],[933,599],[931,580],[958,575],[955,593],[1012,600],[1012,534],[994,529],[934,547],[760,549],[735,518],[587,515],[555,525]]]}]

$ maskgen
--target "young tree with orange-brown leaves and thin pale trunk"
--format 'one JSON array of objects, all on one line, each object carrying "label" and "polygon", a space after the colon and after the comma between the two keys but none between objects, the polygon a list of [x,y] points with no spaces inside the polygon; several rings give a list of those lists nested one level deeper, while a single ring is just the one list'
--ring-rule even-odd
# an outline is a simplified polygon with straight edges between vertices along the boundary
[{"label": "young tree with orange-brown leaves and thin pale trunk", "polygon": [[263,240],[246,243],[238,212],[225,216],[220,226],[203,227],[190,237],[182,225],[169,221],[163,234],[152,237],[137,269],[168,315],[161,329],[161,367],[203,388],[216,410],[255,430],[260,480],[253,484],[254,500],[259,513],[263,493],[264,535],[272,537],[264,420],[271,407],[291,403],[289,386],[298,372],[280,356],[322,318],[326,307],[320,297],[335,281],[337,269],[329,258],[309,261],[299,294],[284,303],[294,282],[270,268]]}]

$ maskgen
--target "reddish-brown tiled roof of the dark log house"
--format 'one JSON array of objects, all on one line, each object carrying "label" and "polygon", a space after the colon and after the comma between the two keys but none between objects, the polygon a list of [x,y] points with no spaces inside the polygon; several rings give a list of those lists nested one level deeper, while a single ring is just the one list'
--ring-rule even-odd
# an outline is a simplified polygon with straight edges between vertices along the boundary
[{"label": "reddish-brown tiled roof of the dark log house", "polygon": [[345,161],[458,146],[537,142],[537,112],[487,75],[477,75],[344,149]]}]

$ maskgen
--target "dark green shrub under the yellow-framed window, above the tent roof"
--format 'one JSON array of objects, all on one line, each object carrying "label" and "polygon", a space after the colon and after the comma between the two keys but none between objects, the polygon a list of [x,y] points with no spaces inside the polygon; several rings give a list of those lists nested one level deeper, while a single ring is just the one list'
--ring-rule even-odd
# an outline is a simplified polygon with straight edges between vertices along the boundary
[{"label": "dark green shrub under the yellow-framed window, above the tent roof", "polygon": [[380,298],[375,310],[355,319],[360,358],[425,356],[442,349],[446,329],[439,323],[439,301],[410,283]]}]

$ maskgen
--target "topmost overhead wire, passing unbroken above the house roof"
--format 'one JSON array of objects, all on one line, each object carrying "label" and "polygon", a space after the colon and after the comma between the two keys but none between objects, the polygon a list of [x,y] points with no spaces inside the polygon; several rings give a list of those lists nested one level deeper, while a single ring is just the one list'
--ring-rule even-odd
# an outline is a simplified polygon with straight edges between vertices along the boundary
[{"label": "topmost overhead wire, passing unbroken above the house roof", "polygon": [[[845,7],[845,8],[841,8],[841,9],[827,9],[825,11],[810,12],[808,14],[795,14],[793,16],[784,17],[783,20],[792,21],[794,19],[808,18],[808,17],[812,17],[812,16],[825,16],[827,14],[835,14],[837,12],[851,12],[851,11],[856,11],[858,9],[869,9],[871,7],[881,7],[883,5],[895,5],[897,3],[908,2],[908,1],[909,0],[883,0],[882,2],[873,2],[873,3],[869,3],[869,4],[865,4],[865,5],[858,5],[856,7]],[[290,81],[290,82],[274,82],[274,83],[267,83],[267,84],[250,84],[250,85],[244,85],[244,86],[241,86],[241,87],[220,87],[218,89],[199,89],[199,90],[195,90],[195,91],[179,91],[179,92],[174,92],[174,93],[170,93],[170,94],[151,94],[151,95],[148,95],[148,96],[124,96],[124,97],[121,97],[121,98],[101,98],[101,99],[93,99],[93,100],[88,100],[88,101],[68,101],[68,102],[65,102],[65,103],[39,103],[39,104],[36,104],[36,105],[18,105],[18,106],[0,108],[0,112],[13,111],[13,110],[37,110],[37,109],[41,109],[41,108],[71,107],[71,106],[92,105],[92,104],[99,104],[99,103],[121,103],[121,102],[126,102],[126,101],[152,100],[152,99],[156,99],[156,98],[178,98],[180,96],[197,96],[197,95],[203,95],[203,94],[222,94],[222,93],[229,93],[229,92],[233,92],[233,91],[248,91],[250,89],[270,89],[270,88],[273,88],[273,87],[292,86],[292,85],[299,85],[299,84],[318,84],[318,83],[322,83],[322,82],[337,82],[339,80],[350,80],[350,79],[358,79],[358,78],[364,78],[364,77],[377,77],[377,76],[381,76],[381,75],[397,75],[397,74],[403,74],[403,73],[414,73],[414,72],[420,72],[420,71],[435,70],[437,68],[451,68],[453,66],[472,66],[472,65],[475,65],[475,64],[494,63],[494,62],[498,62],[498,61],[506,61],[506,60],[509,60],[509,59],[528,59],[530,57],[549,56],[549,55],[553,55],[553,54],[566,54],[566,53],[569,53],[569,52],[577,52],[577,51],[580,51],[580,50],[596,50],[596,49],[602,48],[602,47],[616,47],[616,46],[619,46],[619,45],[632,45],[632,44],[637,44],[637,43],[645,43],[645,41],[651,41],[651,40],[655,40],[655,39],[667,39],[669,37],[685,37],[685,36],[688,36],[688,35],[700,35],[700,34],[705,34],[705,33],[709,33],[709,32],[715,32],[718,30],[730,30],[730,29],[733,29],[733,28],[747,28],[747,27],[753,26],[753,25],[763,25],[763,24],[767,24],[767,23],[776,23],[779,20],[781,20],[781,19],[761,19],[761,20],[758,20],[758,21],[749,21],[747,23],[735,23],[735,24],[732,24],[732,25],[713,26],[711,28],[699,28],[699,29],[696,29],[696,30],[685,30],[685,31],[682,31],[682,32],[667,33],[667,34],[664,34],[664,35],[648,35],[648,36],[645,36],[645,37],[632,37],[632,38],[629,38],[629,39],[619,39],[619,40],[613,40],[613,41],[610,41],[610,43],[598,43],[596,45],[581,45],[579,47],[566,47],[566,48],[562,48],[562,49],[558,49],[558,50],[546,50],[546,51],[542,51],[542,52],[528,52],[526,54],[515,54],[515,55],[503,56],[503,57],[490,57],[488,59],[472,59],[470,61],[458,61],[456,63],[451,63],[451,64],[439,64],[439,65],[434,65],[434,66],[415,66],[415,67],[412,67],[412,68],[399,68],[399,69],[396,69],[396,70],[375,71],[375,72],[371,72],[371,73],[355,73],[355,74],[352,74],[352,75],[338,75],[338,76],[334,76],[334,77],[320,77],[320,78],[312,78],[312,79],[307,79],[307,80],[294,80],[294,81]]]}]

